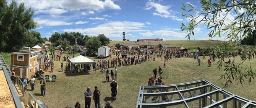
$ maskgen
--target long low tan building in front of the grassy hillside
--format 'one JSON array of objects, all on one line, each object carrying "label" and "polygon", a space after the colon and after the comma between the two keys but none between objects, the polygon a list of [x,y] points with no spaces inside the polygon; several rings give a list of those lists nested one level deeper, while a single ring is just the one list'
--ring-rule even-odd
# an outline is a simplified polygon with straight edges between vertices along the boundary
[{"label": "long low tan building in front of the grassy hillside", "polygon": [[141,48],[148,48],[153,49],[155,46],[159,44],[162,45],[162,48],[167,48],[169,44],[164,42],[132,42],[132,43],[121,43],[120,46],[122,49],[141,49]]}]

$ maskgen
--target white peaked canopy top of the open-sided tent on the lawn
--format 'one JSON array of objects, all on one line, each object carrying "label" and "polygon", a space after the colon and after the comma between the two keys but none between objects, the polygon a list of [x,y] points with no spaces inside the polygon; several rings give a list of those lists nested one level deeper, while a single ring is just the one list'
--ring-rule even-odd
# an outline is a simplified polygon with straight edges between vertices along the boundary
[{"label": "white peaked canopy top of the open-sided tent on the lawn", "polygon": [[91,63],[94,63],[93,60],[87,58],[87,57],[84,57],[84,56],[78,56],[78,57],[74,57],[72,59],[69,59],[68,60],[69,62],[71,62],[71,64],[91,64]]}]

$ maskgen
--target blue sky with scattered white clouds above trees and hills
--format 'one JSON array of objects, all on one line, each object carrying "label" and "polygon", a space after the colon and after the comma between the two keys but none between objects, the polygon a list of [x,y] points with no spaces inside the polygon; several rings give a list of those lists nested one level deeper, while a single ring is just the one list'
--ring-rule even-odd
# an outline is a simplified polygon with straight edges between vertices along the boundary
[{"label": "blue sky with scattered white clouds above trees and hills", "polygon": [[[39,25],[34,31],[49,37],[55,31],[81,32],[97,36],[104,33],[110,40],[160,38],[185,40],[180,31],[182,3],[199,9],[199,0],[16,0],[34,11]],[[200,9],[199,9],[200,10]],[[209,39],[207,25],[200,24],[191,39]],[[224,40],[214,37],[213,39]]]}]

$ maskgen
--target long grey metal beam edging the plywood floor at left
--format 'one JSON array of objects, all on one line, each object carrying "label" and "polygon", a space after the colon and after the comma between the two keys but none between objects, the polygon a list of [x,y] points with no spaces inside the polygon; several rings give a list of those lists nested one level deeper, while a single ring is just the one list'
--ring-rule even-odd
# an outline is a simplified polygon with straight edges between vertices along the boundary
[{"label": "long grey metal beam edging the plywood floor at left", "polygon": [[10,88],[10,93],[13,96],[13,101],[15,103],[16,108],[23,108],[23,105],[21,104],[21,100],[18,97],[18,94],[16,92],[16,89],[14,88],[12,80],[10,80],[10,76],[7,73],[7,70],[5,69],[5,67],[2,67],[2,69],[3,69],[3,72],[5,74],[5,79],[7,81],[7,84],[9,86],[9,88]]}]

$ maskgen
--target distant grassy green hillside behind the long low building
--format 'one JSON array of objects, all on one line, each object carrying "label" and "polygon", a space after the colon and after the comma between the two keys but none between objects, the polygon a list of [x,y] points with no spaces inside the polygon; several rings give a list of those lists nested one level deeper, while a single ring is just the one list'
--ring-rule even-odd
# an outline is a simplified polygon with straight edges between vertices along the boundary
[{"label": "distant grassy green hillside behind the long low building", "polygon": [[[110,41],[110,46],[115,46],[115,44],[118,43],[128,43],[128,42],[133,42],[133,41]],[[145,41],[147,43],[149,41]],[[156,42],[156,41],[151,41],[151,42]],[[210,41],[210,40],[167,40],[167,41],[160,41],[160,42],[165,42],[166,44],[169,44],[169,46],[182,46],[184,48],[187,48],[188,50],[196,50],[197,47],[199,46],[215,46],[215,45],[220,45],[222,44],[223,41]]]}]

